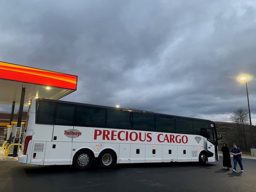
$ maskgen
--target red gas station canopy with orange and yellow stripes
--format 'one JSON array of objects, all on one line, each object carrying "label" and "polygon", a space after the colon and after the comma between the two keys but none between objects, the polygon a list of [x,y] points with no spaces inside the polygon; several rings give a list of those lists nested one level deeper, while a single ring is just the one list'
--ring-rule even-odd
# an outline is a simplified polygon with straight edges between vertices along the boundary
[{"label": "red gas station canopy with orange and yellow stripes", "polygon": [[60,99],[76,90],[77,76],[0,61],[0,103],[20,105],[26,88],[24,106],[34,97]]}]

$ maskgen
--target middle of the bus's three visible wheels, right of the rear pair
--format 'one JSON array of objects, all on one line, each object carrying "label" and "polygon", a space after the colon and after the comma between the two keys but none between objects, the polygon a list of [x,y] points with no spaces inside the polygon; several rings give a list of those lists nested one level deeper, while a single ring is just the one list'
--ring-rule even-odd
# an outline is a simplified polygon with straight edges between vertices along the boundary
[{"label": "middle of the bus's three visible wheels, right of the rear pair", "polygon": [[111,150],[105,150],[99,154],[98,160],[103,169],[111,168],[116,162],[116,155]]}]

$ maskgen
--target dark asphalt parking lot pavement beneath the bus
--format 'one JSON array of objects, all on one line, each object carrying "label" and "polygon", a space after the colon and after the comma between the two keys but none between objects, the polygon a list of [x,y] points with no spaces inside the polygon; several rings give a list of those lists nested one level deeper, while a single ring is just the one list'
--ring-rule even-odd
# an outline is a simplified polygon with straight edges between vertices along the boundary
[{"label": "dark asphalt parking lot pavement beneath the bus", "polygon": [[21,164],[0,158],[0,191],[255,191],[256,160],[243,159],[245,172],[222,169],[220,161],[149,163],[94,167],[76,171],[70,166]]}]

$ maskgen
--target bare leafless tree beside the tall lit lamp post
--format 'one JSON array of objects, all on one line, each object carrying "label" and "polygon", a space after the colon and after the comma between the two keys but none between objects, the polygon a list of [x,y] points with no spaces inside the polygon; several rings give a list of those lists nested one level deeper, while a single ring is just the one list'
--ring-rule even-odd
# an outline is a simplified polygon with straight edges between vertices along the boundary
[{"label": "bare leafless tree beside the tall lit lamp post", "polygon": [[240,107],[231,114],[229,119],[236,124],[234,136],[236,137],[239,145],[248,149],[245,125],[247,125],[249,122],[249,112],[243,109],[243,107]]}]

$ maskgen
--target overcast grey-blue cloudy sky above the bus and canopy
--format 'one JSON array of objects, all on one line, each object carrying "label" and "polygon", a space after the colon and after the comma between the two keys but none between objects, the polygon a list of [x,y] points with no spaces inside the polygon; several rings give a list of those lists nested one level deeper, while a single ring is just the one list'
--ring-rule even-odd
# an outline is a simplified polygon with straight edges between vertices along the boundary
[{"label": "overcast grey-blue cloudy sky above the bus and canopy", "polygon": [[248,110],[237,77],[250,74],[256,124],[256,1],[2,0],[0,12],[0,61],[77,75],[61,100],[230,122]]}]

